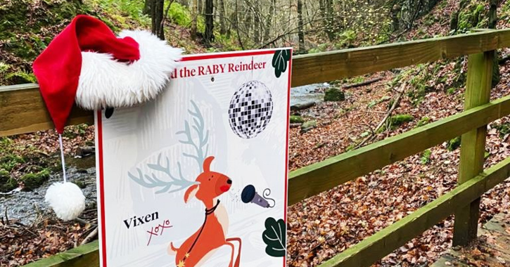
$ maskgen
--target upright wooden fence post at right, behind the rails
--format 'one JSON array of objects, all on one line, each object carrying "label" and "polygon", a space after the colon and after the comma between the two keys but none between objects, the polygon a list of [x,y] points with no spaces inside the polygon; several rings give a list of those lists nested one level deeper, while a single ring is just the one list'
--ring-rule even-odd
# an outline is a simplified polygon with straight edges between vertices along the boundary
[{"label": "upright wooden fence post at right, behind the rails", "polygon": [[[492,61],[494,51],[468,56],[468,78],[464,94],[464,109],[469,110],[490,100]],[[487,125],[464,133],[461,138],[461,155],[458,183],[465,183],[483,171]],[[480,198],[466,203],[455,212],[453,245],[467,245],[476,238]]]}]

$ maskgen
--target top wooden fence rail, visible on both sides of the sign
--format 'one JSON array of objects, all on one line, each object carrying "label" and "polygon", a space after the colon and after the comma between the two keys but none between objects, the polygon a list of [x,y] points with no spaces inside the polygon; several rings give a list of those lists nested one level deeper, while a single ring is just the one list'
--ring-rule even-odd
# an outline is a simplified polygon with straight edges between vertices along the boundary
[{"label": "top wooden fence rail, visible on both sides of the sign", "polygon": [[[295,56],[292,86],[329,82],[506,46],[510,46],[510,30],[492,30]],[[36,84],[0,87],[0,115],[0,136],[53,129]],[[92,112],[75,108],[68,124],[93,121]]]}]

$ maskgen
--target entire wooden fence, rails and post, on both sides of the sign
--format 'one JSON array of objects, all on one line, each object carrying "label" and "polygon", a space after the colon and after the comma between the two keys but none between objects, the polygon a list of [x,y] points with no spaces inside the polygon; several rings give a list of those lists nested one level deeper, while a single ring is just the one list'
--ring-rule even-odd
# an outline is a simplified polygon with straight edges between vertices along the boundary
[{"label": "entire wooden fence, rails and post, on both sides of the sign", "polygon": [[[510,176],[510,158],[483,169],[486,126],[510,114],[510,96],[489,102],[494,51],[508,46],[510,30],[478,30],[454,37],[315,53],[293,59],[292,85],[300,86],[469,55],[464,112],[291,172],[288,202],[295,204],[462,136],[456,188],[319,267],[371,266],[451,214],[456,215],[454,245],[466,245],[476,237],[480,196]],[[92,123],[92,113],[75,108],[70,124],[83,122]],[[53,124],[36,84],[0,87],[0,136],[51,128]],[[70,249],[27,266],[96,267],[99,266],[98,243]]]}]

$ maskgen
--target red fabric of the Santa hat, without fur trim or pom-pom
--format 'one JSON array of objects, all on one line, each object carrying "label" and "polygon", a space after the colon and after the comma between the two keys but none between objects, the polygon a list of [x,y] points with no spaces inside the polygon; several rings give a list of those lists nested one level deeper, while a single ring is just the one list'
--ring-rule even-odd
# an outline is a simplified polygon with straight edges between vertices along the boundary
[{"label": "red fabric of the Santa hat, without fur trim or pom-pom", "polygon": [[117,60],[139,60],[139,46],[131,37],[117,38],[101,20],[78,15],[34,61],[46,108],[59,133],[75,103],[82,51],[110,53]]}]

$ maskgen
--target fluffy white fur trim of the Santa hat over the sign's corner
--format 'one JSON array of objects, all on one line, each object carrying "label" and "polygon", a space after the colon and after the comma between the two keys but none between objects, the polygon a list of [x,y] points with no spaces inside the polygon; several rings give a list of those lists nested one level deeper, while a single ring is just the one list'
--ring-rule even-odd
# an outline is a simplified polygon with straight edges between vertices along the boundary
[{"label": "fluffy white fur trim of the Santa hat over the sign's corner", "polygon": [[122,31],[139,44],[140,59],[122,63],[109,54],[82,52],[76,103],[87,110],[129,107],[158,96],[177,67],[182,50],[150,32]]}]

